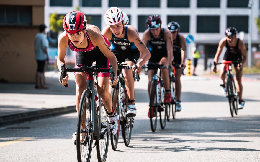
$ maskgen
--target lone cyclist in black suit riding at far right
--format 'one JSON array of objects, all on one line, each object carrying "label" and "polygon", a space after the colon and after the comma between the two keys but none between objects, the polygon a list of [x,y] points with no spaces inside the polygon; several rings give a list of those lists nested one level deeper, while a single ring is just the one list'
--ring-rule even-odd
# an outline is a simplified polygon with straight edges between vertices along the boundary
[{"label": "lone cyclist in black suit riding at far right", "polygon": [[[227,47],[227,51],[225,52],[225,55],[223,57],[224,61],[237,61],[240,59],[241,61],[241,67],[239,68],[239,64],[234,63],[235,71],[236,71],[236,81],[238,84],[238,96],[239,96],[239,105],[238,109],[244,108],[245,101],[242,99],[242,92],[243,92],[243,86],[242,86],[242,75],[243,75],[243,67],[247,59],[247,51],[245,43],[237,38],[237,30],[235,27],[228,27],[225,31],[225,38],[222,38],[218,44],[218,49],[214,58],[214,62],[217,63],[219,60],[219,56],[222,52],[223,47]],[[214,72],[216,72],[217,69],[214,68]],[[225,66],[222,66],[220,69],[220,78],[223,81],[223,84],[220,86],[223,89],[223,92],[226,92],[226,68]]]}]

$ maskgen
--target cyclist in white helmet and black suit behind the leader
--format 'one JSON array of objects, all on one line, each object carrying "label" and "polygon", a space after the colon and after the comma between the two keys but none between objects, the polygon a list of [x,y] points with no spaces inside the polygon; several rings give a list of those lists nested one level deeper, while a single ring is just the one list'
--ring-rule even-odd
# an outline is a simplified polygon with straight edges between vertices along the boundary
[{"label": "cyclist in white helmet and black suit behind the leader", "polygon": [[[117,61],[125,62],[127,66],[133,66],[136,64],[137,68],[135,73],[140,74],[142,71],[142,65],[144,65],[150,58],[151,54],[140,39],[135,28],[131,25],[125,25],[124,19],[125,15],[121,9],[111,7],[104,15],[104,20],[107,26],[102,30],[102,34],[111,43],[110,47],[117,57]],[[127,102],[127,114],[135,115],[135,82],[132,72],[132,69],[122,69],[123,76],[125,77],[125,87],[129,98]]]}]

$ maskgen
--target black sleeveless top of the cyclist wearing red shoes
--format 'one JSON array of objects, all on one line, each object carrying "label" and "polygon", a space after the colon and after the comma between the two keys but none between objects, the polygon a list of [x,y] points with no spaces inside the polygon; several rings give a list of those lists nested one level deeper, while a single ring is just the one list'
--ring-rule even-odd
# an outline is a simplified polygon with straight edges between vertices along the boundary
[{"label": "black sleeveless top of the cyclist wearing red shoes", "polygon": [[148,45],[150,46],[149,51],[151,53],[151,58],[149,62],[160,62],[161,58],[168,56],[166,40],[164,40],[164,28],[162,28],[159,38],[154,38],[149,29],[150,40]]}]

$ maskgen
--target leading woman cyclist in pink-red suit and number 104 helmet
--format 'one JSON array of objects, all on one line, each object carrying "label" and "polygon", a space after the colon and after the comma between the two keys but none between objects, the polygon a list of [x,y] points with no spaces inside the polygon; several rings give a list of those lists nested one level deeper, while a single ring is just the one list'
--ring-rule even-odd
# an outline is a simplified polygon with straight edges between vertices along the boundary
[{"label": "leading woman cyclist in pink-red suit and number 104 helmet", "polygon": [[[115,69],[115,78],[113,84],[117,84],[117,59],[108,46],[106,38],[101,34],[98,27],[87,24],[85,15],[80,11],[72,11],[66,14],[63,19],[64,32],[58,39],[58,59],[57,65],[61,71],[61,64],[65,64],[65,55],[67,47],[76,51],[75,68],[80,65],[92,66],[96,61],[97,65],[103,65],[104,69],[109,68],[109,62]],[[79,66],[78,66],[79,65]],[[86,80],[88,74],[75,72],[76,81],[76,109],[79,111],[79,102],[83,91],[86,89]],[[109,134],[114,135],[117,132],[119,120],[118,115],[112,108],[112,96],[109,93],[109,73],[98,73],[97,92],[102,98],[104,106],[107,108],[107,130]],[[62,79],[62,85],[68,82],[68,75]],[[83,128],[86,129],[86,128]],[[75,134],[75,133],[74,133]],[[73,134],[73,137],[75,135]],[[76,139],[73,139],[76,140]]]}]

